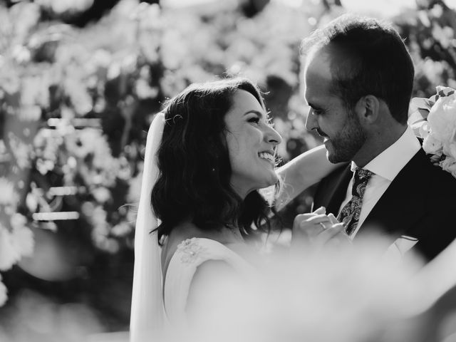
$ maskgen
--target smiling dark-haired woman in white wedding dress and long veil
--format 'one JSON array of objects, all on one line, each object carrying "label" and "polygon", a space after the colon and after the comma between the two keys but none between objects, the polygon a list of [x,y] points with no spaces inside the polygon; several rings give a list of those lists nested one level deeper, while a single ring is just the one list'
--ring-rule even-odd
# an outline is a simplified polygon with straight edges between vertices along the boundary
[{"label": "smiling dark-haired woman in white wedding dress and long veil", "polygon": [[[259,189],[274,187],[280,209],[336,167],[317,147],[277,171],[281,141],[246,78],[193,84],[155,116],[136,222],[130,341],[187,324],[208,284],[212,298],[224,296],[215,279],[254,272],[257,250],[248,242],[269,232],[274,211]],[[279,179],[287,185],[280,195]],[[311,218],[304,225],[341,230],[321,209]]]}]

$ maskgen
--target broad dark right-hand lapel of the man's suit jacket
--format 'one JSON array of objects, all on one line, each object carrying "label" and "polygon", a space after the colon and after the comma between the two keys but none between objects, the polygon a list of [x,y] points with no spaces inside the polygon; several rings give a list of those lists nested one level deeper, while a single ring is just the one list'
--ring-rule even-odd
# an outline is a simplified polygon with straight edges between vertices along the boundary
[{"label": "broad dark right-hand lapel of the man's suit jacket", "polygon": [[356,237],[380,229],[395,237],[407,232],[424,214],[425,192],[420,187],[432,167],[419,150],[391,182],[366,217]]}]

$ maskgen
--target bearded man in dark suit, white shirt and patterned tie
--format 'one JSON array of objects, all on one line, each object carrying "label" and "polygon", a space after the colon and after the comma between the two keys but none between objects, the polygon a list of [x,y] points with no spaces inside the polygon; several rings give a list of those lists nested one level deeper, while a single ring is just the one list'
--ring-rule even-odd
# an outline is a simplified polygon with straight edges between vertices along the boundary
[{"label": "bearded man in dark suit, white shirt and patterned tie", "polygon": [[346,15],[303,47],[306,128],[323,137],[330,162],[349,162],[320,182],[314,208],[333,213],[353,243],[383,232],[400,254],[413,247],[434,258],[456,237],[456,179],[432,165],[407,125],[414,68],[402,39]]}]

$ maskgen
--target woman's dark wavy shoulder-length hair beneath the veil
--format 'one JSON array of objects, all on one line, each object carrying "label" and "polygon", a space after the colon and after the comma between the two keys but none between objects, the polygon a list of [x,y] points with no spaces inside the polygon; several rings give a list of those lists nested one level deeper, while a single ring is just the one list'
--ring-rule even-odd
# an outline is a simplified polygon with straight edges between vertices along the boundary
[{"label": "woman's dark wavy shoulder-length hair beneath the veil", "polygon": [[244,235],[271,229],[268,214],[274,209],[264,197],[252,191],[242,199],[229,182],[224,117],[237,90],[251,93],[265,108],[259,88],[247,78],[195,83],[165,104],[157,151],[160,173],[151,195],[152,209],[162,222],[159,239],[185,219],[205,230],[235,224]]}]

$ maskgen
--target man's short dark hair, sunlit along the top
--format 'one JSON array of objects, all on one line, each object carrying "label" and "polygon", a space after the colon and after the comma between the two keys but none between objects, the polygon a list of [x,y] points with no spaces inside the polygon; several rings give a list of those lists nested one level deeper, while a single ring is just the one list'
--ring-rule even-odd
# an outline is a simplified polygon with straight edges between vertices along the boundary
[{"label": "man's short dark hair, sunlit along the top", "polygon": [[314,31],[301,48],[310,58],[328,56],[332,91],[348,108],[364,95],[375,95],[385,101],[395,120],[407,122],[414,68],[393,26],[346,14]]}]

